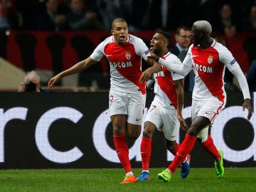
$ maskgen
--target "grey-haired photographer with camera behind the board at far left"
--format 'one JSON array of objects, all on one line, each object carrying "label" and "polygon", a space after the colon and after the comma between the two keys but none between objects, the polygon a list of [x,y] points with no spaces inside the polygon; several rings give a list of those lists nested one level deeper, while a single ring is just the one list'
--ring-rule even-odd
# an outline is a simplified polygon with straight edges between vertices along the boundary
[{"label": "grey-haired photographer with camera behind the board at far left", "polygon": [[18,92],[50,92],[43,90],[40,85],[40,77],[35,70],[26,73],[24,82],[18,85]]}]

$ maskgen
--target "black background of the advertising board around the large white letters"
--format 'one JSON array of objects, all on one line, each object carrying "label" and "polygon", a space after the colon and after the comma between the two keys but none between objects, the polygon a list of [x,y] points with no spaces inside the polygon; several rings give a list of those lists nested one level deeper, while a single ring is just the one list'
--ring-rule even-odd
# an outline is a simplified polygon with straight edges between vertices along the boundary
[{"label": "black background of the advertising board around the large white letters", "polygon": [[[154,93],[149,91],[146,107],[149,107],[153,97]],[[190,106],[191,93],[186,92],[185,98],[184,107]],[[226,107],[241,106],[242,101],[240,92],[228,92]],[[4,162],[0,163],[0,169],[121,168],[120,164],[103,159],[92,142],[92,127],[95,120],[108,108],[108,92],[0,93],[0,110],[5,113],[13,107],[26,107],[28,112],[25,120],[12,119],[4,128]],[[57,164],[49,161],[36,146],[35,129],[38,119],[53,107],[72,107],[83,115],[76,124],[68,119],[58,119],[48,132],[50,144],[55,150],[68,151],[77,146],[82,151],[84,155],[72,163]],[[2,118],[3,115],[0,114],[0,124]],[[252,124],[243,118],[231,118],[223,131],[225,143],[233,150],[247,149],[255,140]],[[190,118],[186,121],[188,124],[191,123]],[[253,116],[250,121],[255,121]],[[184,132],[181,131],[181,141],[183,137]],[[108,126],[106,139],[114,149],[111,124]],[[132,144],[133,142],[129,141],[129,146]],[[191,156],[191,167],[213,167],[213,158],[197,143]],[[166,159],[164,137],[161,132],[156,132],[152,142],[151,167],[167,166],[169,162]],[[132,166],[139,168],[141,162],[132,159]],[[240,163],[225,161],[225,166],[256,166],[256,161],[253,158]]]}]

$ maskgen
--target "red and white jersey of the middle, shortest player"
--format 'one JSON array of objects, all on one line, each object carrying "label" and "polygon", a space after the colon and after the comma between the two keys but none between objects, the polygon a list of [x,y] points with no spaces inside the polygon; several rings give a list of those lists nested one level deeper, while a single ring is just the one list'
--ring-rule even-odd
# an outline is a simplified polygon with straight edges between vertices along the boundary
[{"label": "red and white jersey of the middle, shortest player", "polygon": [[[169,61],[168,63],[181,64],[181,60],[176,55],[167,53],[162,59]],[[168,65],[168,64],[167,64]],[[174,85],[174,80],[181,80],[184,77],[178,73],[167,70],[165,66],[162,66],[161,71],[154,73],[154,93],[156,94],[154,100],[157,100],[167,108],[177,109],[177,93]]]}]

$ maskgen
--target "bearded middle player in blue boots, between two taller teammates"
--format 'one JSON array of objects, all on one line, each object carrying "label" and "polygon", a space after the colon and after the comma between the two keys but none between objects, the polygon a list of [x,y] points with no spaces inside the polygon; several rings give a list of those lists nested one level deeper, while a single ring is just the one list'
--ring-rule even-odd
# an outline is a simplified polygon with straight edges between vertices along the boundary
[{"label": "bearded middle player in blue boots, between two taller teammates", "polygon": [[[159,58],[163,58],[169,63],[182,65],[181,60],[176,55],[169,52],[171,46],[171,36],[165,31],[156,31],[150,42],[150,50]],[[156,129],[164,132],[167,149],[171,154],[176,154],[179,144],[176,143],[178,130],[187,130],[187,124],[182,117],[181,111],[184,101],[184,77],[178,73],[170,72],[163,67],[158,73],[154,73],[154,93],[155,97],[151,102],[146,120],[144,122],[144,132],[141,143],[142,154],[142,174],[137,177],[137,181],[149,180],[149,161],[151,157],[151,141]],[[181,164],[181,177],[186,178],[189,174],[190,155]]]}]

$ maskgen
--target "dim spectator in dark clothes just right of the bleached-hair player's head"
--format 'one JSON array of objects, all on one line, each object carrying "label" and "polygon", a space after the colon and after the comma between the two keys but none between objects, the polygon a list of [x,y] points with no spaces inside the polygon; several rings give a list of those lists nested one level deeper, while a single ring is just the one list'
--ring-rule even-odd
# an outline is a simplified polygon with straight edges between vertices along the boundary
[{"label": "dim spectator in dark clothes just right of the bleached-hair player's head", "polygon": [[215,26],[215,32],[225,33],[228,38],[233,38],[237,32],[237,22],[230,4],[223,4],[220,16]]}]

